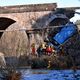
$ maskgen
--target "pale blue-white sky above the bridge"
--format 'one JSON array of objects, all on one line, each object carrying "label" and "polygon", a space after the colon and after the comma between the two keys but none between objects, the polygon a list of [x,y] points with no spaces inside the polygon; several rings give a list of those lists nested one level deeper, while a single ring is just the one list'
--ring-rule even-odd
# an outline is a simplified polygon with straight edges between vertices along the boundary
[{"label": "pale blue-white sky above the bridge", "polygon": [[[26,4],[44,4],[57,3],[58,7],[80,7],[80,0],[0,0],[0,6],[26,5]],[[80,12],[80,10],[77,10]],[[72,20],[75,22],[80,18],[76,15]]]}]

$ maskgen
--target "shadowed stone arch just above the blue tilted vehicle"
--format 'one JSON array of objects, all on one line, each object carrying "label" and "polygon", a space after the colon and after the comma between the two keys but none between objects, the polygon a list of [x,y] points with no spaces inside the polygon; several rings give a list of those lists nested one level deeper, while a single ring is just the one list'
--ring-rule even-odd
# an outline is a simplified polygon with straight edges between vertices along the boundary
[{"label": "shadowed stone arch just above the blue tilted vehicle", "polygon": [[52,15],[46,22],[46,26],[59,26],[64,25],[69,21],[66,15]]}]

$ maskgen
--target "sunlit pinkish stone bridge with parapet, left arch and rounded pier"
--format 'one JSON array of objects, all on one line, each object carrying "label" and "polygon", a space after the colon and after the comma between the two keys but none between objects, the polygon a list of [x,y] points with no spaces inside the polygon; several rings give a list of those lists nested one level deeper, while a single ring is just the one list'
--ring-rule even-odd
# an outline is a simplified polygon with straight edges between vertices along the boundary
[{"label": "sunlit pinkish stone bridge with parapet, left arch and rounded pier", "polygon": [[41,43],[40,34],[26,35],[23,29],[44,27],[56,7],[56,3],[0,7],[0,51],[18,55],[28,52],[32,43]]}]

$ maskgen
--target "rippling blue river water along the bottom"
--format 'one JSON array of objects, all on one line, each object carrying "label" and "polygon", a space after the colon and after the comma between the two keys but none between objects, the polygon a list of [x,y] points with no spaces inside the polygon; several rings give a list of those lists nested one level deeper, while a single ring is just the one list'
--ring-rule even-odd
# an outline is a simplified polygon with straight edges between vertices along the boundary
[{"label": "rippling blue river water along the bottom", "polygon": [[21,80],[80,80],[80,70],[21,70]]}]

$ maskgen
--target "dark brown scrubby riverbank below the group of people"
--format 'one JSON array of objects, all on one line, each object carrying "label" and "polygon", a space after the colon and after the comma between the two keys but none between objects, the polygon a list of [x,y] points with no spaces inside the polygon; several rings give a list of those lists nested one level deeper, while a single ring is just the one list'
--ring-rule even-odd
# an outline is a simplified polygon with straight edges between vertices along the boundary
[{"label": "dark brown scrubby riverbank below the group of people", "polygon": [[[18,68],[71,69],[75,64],[70,56],[53,54],[51,56],[42,55],[41,57],[37,57],[32,55],[20,58]],[[76,68],[80,69],[80,67]]]}]

